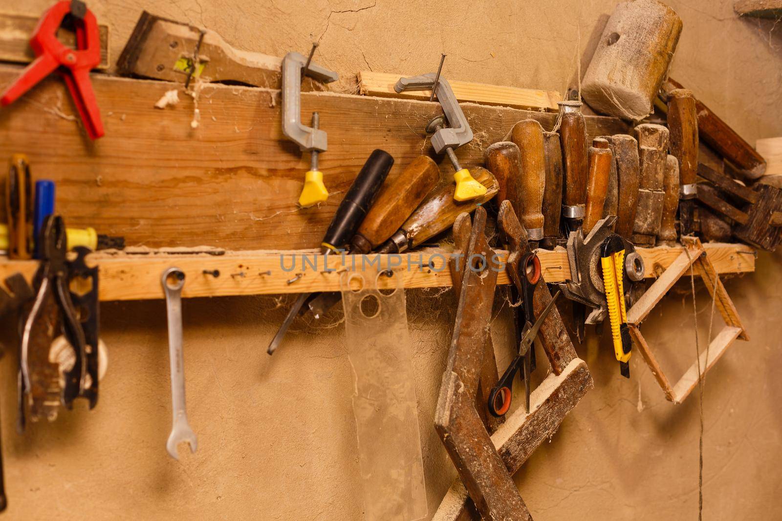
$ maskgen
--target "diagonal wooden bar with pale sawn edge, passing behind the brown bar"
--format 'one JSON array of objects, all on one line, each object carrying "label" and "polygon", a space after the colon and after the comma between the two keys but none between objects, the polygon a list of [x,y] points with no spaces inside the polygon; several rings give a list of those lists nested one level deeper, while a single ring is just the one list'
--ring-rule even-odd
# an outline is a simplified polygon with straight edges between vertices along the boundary
[{"label": "diagonal wooden bar with pale sawn edge, passing behind the brown bar", "polygon": [[[508,415],[491,440],[508,472],[522,468],[543,441],[551,439],[562,420],[594,384],[587,364],[573,359],[560,375],[550,373],[529,396],[529,414],[519,407]],[[465,485],[457,477],[450,486],[432,521],[476,519],[475,506]]]}]

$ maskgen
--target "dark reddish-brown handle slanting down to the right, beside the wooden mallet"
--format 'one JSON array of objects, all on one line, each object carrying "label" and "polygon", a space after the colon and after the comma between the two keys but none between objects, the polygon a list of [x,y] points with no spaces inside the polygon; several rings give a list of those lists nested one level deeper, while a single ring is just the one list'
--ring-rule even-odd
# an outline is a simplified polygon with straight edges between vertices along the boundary
[{"label": "dark reddish-brown handle slanting down to the right, beside the wooden mallet", "polygon": [[[681,84],[669,78],[662,84],[662,98],[668,101],[670,92],[681,88]],[[698,98],[695,98],[695,113],[698,115],[698,136],[706,145],[750,179],[758,179],[766,172],[766,159]]]}]

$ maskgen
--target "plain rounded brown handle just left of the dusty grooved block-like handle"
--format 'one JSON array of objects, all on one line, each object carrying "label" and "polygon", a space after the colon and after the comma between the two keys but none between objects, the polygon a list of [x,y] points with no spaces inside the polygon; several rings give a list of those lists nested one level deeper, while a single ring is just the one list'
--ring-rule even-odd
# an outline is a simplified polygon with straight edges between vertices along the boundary
[{"label": "plain rounded brown handle just left of the dusty grooved block-like handle", "polygon": [[615,134],[608,137],[608,145],[616,164],[616,177],[619,184],[619,207],[616,212],[617,234],[630,240],[638,208],[639,159],[638,142],[628,134]]}]

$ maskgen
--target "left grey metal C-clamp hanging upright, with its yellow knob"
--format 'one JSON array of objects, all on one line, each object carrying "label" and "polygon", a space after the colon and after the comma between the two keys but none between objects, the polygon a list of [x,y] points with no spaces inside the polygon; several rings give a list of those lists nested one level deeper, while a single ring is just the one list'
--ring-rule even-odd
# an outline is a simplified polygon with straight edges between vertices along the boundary
[{"label": "left grey metal C-clamp hanging upright, with its yellow knob", "polygon": [[299,145],[302,152],[310,152],[310,170],[304,175],[304,186],[299,196],[303,208],[317,205],[328,199],[323,184],[323,173],[317,170],[317,155],[325,152],[328,141],[325,130],[317,128],[317,113],[313,114],[312,127],[301,123],[301,78],[303,73],[323,83],[339,79],[339,74],[310,62],[298,52],[289,52],[282,59],[282,134]]}]

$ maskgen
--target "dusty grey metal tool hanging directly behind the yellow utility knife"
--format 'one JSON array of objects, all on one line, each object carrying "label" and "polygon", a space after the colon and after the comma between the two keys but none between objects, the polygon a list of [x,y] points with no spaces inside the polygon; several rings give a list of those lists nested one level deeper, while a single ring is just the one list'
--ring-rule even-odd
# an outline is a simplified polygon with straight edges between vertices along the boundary
[{"label": "dusty grey metal tool hanging directly behind the yellow utility knife", "polygon": [[[616,216],[605,217],[597,221],[586,238],[581,229],[570,232],[568,238],[568,262],[572,279],[565,280],[559,284],[559,287],[565,297],[593,308],[585,320],[587,324],[601,323],[608,316],[601,266],[601,246],[608,238],[615,236],[611,230],[615,221]],[[622,242],[625,244],[626,251],[624,266],[626,276],[633,282],[643,279],[644,260],[635,251],[633,244],[625,239],[622,239]]]}]

